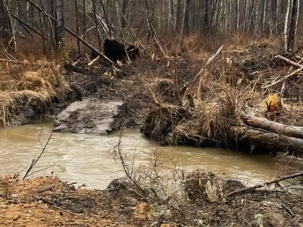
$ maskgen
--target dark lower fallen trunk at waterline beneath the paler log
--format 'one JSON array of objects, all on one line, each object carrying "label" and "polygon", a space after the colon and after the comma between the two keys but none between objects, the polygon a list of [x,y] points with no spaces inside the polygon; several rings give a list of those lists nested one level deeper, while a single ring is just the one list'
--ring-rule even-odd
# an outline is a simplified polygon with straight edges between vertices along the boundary
[{"label": "dark lower fallen trunk at waterline beneath the paler log", "polygon": [[232,131],[237,133],[237,144],[239,146],[249,144],[254,145],[255,150],[261,151],[288,151],[288,153],[294,153],[295,155],[303,154],[303,139],[288,137],[283,134],[261,131],[252,129],[245,126],[232,127]]}]

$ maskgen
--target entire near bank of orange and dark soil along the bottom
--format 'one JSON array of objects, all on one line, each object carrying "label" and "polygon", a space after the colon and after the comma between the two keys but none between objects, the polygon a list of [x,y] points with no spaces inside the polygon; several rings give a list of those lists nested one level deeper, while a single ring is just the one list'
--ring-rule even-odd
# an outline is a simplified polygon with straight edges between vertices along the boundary
[{"label": "entire near bank of orange and dark soil along the bottom", "polygon": [[[204,180],[201,182],[204,185]],[[0,178],[0,183],[3,226],[156,226],[160,211],[162,227],[303,225],[300,190],[251,190],[210,202],[199,184],[191,180],[185,186],[189,199],[178,203],[173,198],[146,199],[134,185],[118,180],[102,191],[78,189],[77,184],[61,182],[57,177],[22,181],[7,176]],[[241,183],[230,181],[222,192],[225,195],[241,187]]]}]

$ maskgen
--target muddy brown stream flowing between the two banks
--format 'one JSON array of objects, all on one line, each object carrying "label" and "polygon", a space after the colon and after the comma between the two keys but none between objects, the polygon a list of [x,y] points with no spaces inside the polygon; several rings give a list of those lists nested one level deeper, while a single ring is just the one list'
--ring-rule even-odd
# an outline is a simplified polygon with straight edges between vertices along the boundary
[{"label": "muddy brown stream flowing between the two banks", "polygon": [[[0,130],[0,176],[14,174],[29,166],[52,133],[53,120],[11,127]],[[124,176],[121,163],[115,162],[109,149],[117,144],[119,132],[108,136],[78,133],[53,133],[52,138],[36,164],[30,177],[59,176],[62,180],[85,183],[90,189],[105,189],[115,177]],[[272,155],[245,155],[218,148],[195,148],[190,146],[162,147],[141,135],[139,128],[125,130],[122,137],[123,152],[132,154],[136,150],[135,163],[148,163],[154,149],[161,158],[178,158],[177,166],[185,170],[207,168],[218,176],[238,177],[247,184],[275,178],[282,172],[282,162]],[[169,162],[169,161],[167,161]],[[171,163],[172,165],[172,163]],[[297,166],[288,165],[283,175],[298,171]],[[23,176],[25,170],[20,172]]]}]

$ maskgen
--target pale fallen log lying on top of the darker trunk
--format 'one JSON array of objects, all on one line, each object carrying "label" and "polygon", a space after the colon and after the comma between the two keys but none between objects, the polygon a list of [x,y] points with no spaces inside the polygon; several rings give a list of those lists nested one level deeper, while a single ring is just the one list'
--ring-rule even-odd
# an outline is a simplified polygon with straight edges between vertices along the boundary
[{"label": "pale fallen log lying on top of the darker trunk", "polygon": [[266,131],[281,133],[286,136],[303,139],[303,127],[289,126],[275,121],[266,119],[265,117],[257,117],[253,113],[242,114],[245,124],[255,128],[261,128]]}]

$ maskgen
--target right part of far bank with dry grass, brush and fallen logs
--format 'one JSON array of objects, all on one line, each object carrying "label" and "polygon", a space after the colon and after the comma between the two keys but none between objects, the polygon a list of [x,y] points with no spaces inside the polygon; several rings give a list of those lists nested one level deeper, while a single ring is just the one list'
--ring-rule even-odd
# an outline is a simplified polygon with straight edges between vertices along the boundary
[{"label": "right part of far bank with dry grass, brush and fallen logs", "polygon": [[188,67],[177,67],[146,88],[153,107],[142,132],[164,145],[301,155],[302,57],[287,56],[294,67],[277,49],[270,42],[227,46],[214,58],[205,57],[200,67],[195,55],[178,56],[174,61]]}]

